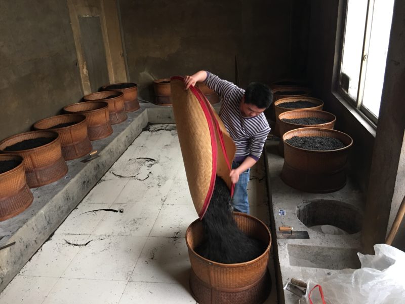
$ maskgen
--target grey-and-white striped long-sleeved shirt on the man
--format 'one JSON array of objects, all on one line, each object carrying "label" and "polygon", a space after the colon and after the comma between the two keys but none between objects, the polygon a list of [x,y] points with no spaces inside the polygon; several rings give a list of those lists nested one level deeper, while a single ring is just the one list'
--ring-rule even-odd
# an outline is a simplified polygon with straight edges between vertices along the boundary
[{"label": "grey-and-white striped long-sleeved shirt on the man", "polygon": [[219,117],[236,145],[235,162],[241,163],[248,156],[259,160],[270,127],[264,113],[255,117],[244,117],[239,104],[245,90],[233,83],[220,79],[207,71],[207,86],[222,97]]}]

